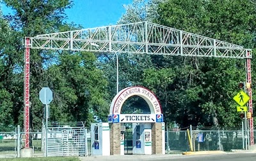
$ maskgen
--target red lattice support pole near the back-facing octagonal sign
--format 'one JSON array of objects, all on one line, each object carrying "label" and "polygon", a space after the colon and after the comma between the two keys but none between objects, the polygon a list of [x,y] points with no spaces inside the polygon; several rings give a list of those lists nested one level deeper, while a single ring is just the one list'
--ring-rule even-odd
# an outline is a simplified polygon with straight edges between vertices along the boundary
[{"label": "red lattice support pole near the back-facing octagonal sign", "polygon": [[25,148],[29,148],[29,38],[25,39],[25,69],[24,69],[24,132],[25,132]]}]

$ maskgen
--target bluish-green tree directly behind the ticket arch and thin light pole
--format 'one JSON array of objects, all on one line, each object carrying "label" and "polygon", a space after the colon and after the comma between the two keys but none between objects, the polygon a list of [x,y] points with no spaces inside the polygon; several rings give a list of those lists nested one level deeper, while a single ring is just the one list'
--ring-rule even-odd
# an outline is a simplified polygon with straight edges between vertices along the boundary
[{"label": "bluish-green tree directly behind the ticket arch and thin light pole", "polygon": [[[114,53],[100,55],[97,66],[104,71],[108,79],[108,102],[111,103],[116,95],[116,55]],[[148,55],[133,55],[131,53],[118,53],[118,86],[119,90],[131,86],[143,86],[143,72],[152,66]],[[138,101],[140,100],[140,101]],[[132,97],[125,101],[122,113],[132,113],[136,109],[148,111],[148,105],[140,97]]]}]

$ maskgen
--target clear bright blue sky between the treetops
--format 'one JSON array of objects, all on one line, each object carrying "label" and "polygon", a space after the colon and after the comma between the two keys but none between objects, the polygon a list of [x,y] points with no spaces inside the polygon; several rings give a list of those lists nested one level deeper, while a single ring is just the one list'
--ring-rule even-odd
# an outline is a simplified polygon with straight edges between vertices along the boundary
[{"label": "clear bright blue sky between the treetops", "polygon": [[[132,0],[73,0],[74,6],[66,10],[67,22],[83,25],[83,28],[114,25],[125,13],[123,4]],[[4,15],[12,10],[2,6]]]}]

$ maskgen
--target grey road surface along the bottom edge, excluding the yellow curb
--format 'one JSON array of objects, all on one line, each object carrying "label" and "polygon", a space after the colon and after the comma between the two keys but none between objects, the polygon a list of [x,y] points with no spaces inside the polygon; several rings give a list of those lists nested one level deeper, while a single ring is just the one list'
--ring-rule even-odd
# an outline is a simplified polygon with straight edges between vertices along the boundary
[{"label": "grey road surface along the bottom edge, excluding the yellow curb", "polygon": [[123,155],[123,156],[97,156],[97,157],[81,157],[82,161],[243,161],[255,160],[256,153],[225,153],[211,155]]}]

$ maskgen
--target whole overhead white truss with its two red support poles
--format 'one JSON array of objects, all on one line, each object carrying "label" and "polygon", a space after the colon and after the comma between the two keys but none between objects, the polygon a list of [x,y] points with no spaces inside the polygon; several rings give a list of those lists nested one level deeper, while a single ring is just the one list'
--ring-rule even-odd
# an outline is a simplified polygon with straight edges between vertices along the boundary
[{"label": "whole overhead white truss with its two red support poles", "polygon": [[[30,49],[246,59],[246,82],[252,83],[251,49],[152,22],[135,22],[76,31],[40,34],[26,37],[24,46],[25,148],[29,148]],[[252,88],[248,88],[247,92],[252,98]],[[248,107],[249,112],[253,113],[252,99],[250,99]],[[253,118],[250,118],[249,125],[250,144],[254,144]]]}]

